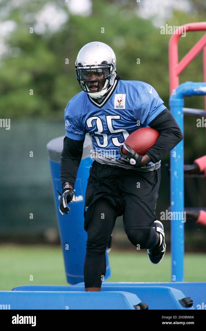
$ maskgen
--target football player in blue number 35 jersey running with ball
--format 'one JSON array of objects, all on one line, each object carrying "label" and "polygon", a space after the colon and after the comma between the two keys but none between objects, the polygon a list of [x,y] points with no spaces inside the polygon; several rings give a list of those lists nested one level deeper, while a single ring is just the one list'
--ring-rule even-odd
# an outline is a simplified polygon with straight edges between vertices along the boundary
[{"label": "football player in blue number 35 jersey running with ball", "polygon": [[[147,249],[151,263],[163,259],[164,229],[155,215],[160,163],[183,134],[153,86],[118,75],[116,57],[108,45],[90,42],[83,46],[75,70],[82,91],[65,108],[59,210],[67,214],[68,203],[75,201],[74,183],[85,134],[89,133],[94,161],[85,194],[84,229],[88,237],[84,282],[86,291],[100,291],[106,272],[105,251],[117,216],[123,215],[128,239],[134,246]],[[144,156],[124,144],[130,133],[142,127],[160,132]],[[128,154],[123,154],[123,144]]]}]

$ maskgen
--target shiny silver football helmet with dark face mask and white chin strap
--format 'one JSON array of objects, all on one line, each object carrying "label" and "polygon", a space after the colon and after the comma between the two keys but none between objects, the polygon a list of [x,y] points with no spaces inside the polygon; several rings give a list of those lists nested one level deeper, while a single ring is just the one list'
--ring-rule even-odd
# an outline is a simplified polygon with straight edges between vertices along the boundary
[{"label": "shiny silver football helmet with dark face mask and white chin strap", "polygon": [[[83,46],[75,62],[76,78],[81,89],[87,92],[90,97],[94,99],[102,98],[108,89],[114,84],[116,77],[116,57],[108,45],[100,41],[92,41]],[[103,78],[89,80],[85,79],[85,72],[87,76],[91,71],[98,74],[103,74]],[[84,75],[83,75],[84,72]],[[106,79],[103,88],[99,89],[100,81]],[[97,91],[90,91],[85,82],[98,82]]]}]

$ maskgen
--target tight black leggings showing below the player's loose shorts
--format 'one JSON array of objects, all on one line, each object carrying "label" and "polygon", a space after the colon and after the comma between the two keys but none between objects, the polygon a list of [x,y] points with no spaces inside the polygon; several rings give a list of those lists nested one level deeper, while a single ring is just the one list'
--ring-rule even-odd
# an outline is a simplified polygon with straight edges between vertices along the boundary
[{"label": "tight black leggings showing below the player's loose shorts", "polygon": [[[102,285],[106,273],[105,251],[117,218],[117,211],[104,197],[97,199],[92,207],[84,261],[85,288]],[[152,248],[157,244],[157,233],[152,226],[150,229],[129,229],[126,234],[130,242],[134,246],[139,245],[140,249]]]}]

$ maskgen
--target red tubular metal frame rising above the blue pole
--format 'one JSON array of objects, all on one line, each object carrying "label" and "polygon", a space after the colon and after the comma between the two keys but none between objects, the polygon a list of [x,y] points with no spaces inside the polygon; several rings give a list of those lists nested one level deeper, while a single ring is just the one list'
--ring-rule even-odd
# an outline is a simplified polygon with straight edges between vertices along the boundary
[{"label": "red tubular metal frame rising above the blue pole", "polygon": [[[178,40],[183,33],[188,31],[206,30],[206,22],[189,23],[180,26],[175,30],[169,41],[169,76],[170,76],[170,94],[179,86],[179,75],[188,66],[188,64],[197,56],[203,49],[203,73],[204,81],[206,82],[206,33],[204,36],[190,49],[184,58],[178,62]],[[206,96],[205,96],[205,111],[206,111]]]}]

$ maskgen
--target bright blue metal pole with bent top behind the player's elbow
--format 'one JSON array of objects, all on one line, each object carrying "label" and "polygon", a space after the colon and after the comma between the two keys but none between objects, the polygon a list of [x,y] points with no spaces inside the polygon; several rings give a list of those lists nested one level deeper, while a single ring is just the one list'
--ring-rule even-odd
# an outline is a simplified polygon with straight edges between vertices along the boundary
[{"label": "bright blue metal pole with bent top behind the player's elbow", "polygon": [[[206,83],[185,82],[170,96],[170,110],[184,134],[184,97],[205,95]],[[184,140],[170,152],[172,281],[184,281]]]}]

